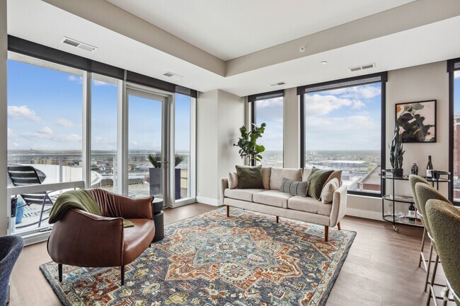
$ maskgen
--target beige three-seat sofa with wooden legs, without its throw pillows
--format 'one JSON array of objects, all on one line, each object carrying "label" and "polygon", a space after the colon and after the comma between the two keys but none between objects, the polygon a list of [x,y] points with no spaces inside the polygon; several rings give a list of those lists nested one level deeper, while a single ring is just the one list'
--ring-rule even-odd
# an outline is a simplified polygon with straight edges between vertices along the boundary
[{"label": "beige three-seat sofa with wooden legs, without its throw pillows", "polygon": [[324,225],[324,240],[327,242],[329,226],[337,225],[340,230],[340,220],[347,210],[347,187],[342,185],[335,190],[333,201],[328,204],[310,196],[292,196],[278,191],[284,177],[294,181],[306,180],[310,171],[263,167],[265,189],[230,189],[228,177],[222,178],[220,196],[222,204],[227,206],[227,216],[233,206],[274,215],[277,222],[279,217],[284,217]]}]

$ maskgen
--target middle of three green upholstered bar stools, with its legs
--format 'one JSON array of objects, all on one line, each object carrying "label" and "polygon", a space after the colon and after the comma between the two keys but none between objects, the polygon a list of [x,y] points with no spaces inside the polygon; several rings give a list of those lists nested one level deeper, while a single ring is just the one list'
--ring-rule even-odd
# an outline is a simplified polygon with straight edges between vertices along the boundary
[{"label": "middle of three green upholstered bar stools, with its legs", "polygon": [[[435,200],[440,200],[448,203],[449,205],[453,206],[452,203],[440,192],[437,191],[434,187],[431,187],[430,184],[425,184],[424,182],[418,182],[415,184],[415,194],[418,199],[418,206],[421,211],[423,221],[425,228],[427,230],[427,236],[430,238],[430,257],[428,258],[428,266],[427,266],[427,274],[425,278],[425,291],[427,290],[427,286],[430,285],[430,288],[433,286],[442,286],[444,285],[435,283],[435,277],[436,277],[436,271],[437,271],[437,264],[439,262],[439,254],[437,254],[437,249],[436,249],[436,241],[432,237],[431,234],[431,227],[430,227],[430,222],[426,218],[426,213],[425,213],[425,206],[427,204],[427,201],[435,199]],[[436,258],[435,261],[432,261],[432,254],[433,254],[433,249],[436,252]],[[429,281],[430,278],[430,268],[431,268],[431,263],[434,262],[433,266],[433,271],[431,275],[431,280]],[[433,291],[434,292],[434,291]],[[430,300],[432,297],[432,290],[430,289],[430,292],[428,293],[428,300],[427,300],[427,305],[430,304]],[[442,297],[433,295],[435,299],[442,299]]]}]

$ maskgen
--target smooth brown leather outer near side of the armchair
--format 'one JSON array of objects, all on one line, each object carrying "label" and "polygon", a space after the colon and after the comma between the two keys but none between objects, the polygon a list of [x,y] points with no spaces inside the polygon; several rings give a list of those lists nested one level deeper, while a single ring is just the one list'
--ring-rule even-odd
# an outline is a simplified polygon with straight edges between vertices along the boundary
[{"label": "smooth brown leather outer near side of the armchair", "polygon": [[59,264],[122,266],[125,243],[122,218],[107,218],[69,209],[54,223],[48,254]]}]

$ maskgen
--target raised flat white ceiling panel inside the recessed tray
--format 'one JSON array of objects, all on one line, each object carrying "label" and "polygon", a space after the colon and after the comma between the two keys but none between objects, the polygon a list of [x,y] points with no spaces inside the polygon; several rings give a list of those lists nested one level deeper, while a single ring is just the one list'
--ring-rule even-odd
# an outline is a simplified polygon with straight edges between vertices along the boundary
[{"label": "raised flat white ceiling panel inside the recessed tray", "polygon": [[414,0],[107,0],[224,61]]}]

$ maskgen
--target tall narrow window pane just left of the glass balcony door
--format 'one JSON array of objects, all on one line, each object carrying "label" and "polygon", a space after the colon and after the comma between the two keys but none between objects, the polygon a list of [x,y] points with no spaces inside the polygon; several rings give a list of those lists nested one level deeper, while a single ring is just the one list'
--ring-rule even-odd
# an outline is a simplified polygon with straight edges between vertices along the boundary
[{"label": "tall narrow window pane just left of the glass balcony door", "polygon": [[117,192],[118,80],[93,73],[91,80],[91,187]]}]

